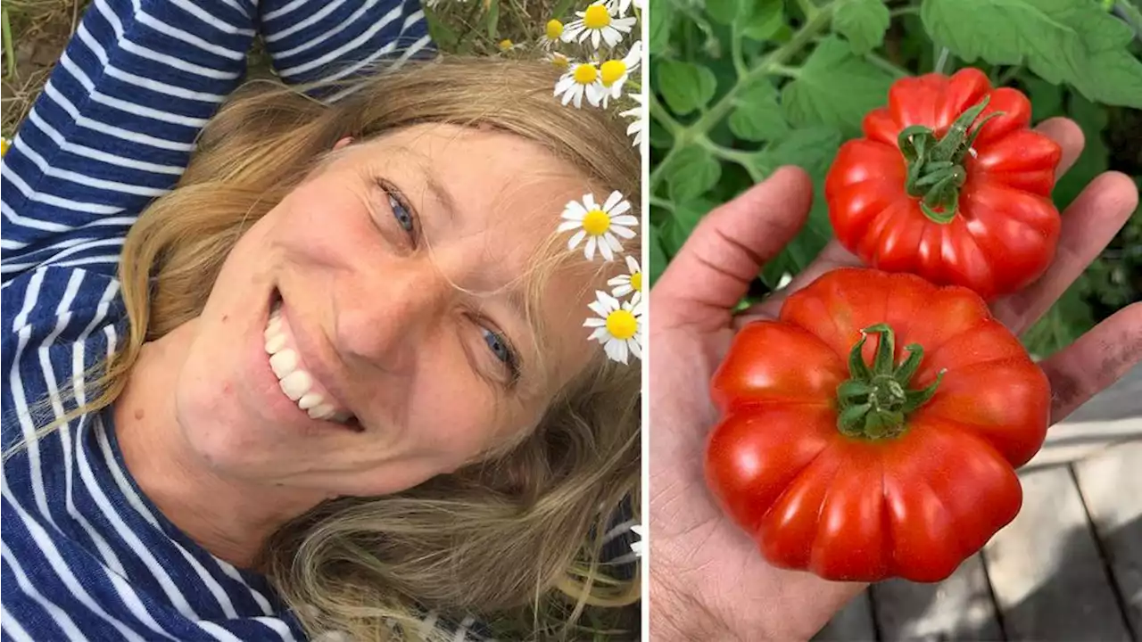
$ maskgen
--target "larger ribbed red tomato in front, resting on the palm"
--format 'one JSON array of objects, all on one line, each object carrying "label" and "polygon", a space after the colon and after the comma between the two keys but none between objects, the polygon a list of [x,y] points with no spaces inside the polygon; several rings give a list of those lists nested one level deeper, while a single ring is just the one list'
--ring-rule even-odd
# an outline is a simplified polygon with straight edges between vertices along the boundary
[{"label": "larger ribbed red tomato in front, resting on the palm", "polygon": [[1014,519],[1051,408],[978,295],[866,268],[746,326],[713,399],[723,509],[772,564],[863,581],[943,579]]}]

